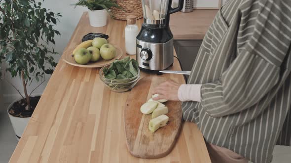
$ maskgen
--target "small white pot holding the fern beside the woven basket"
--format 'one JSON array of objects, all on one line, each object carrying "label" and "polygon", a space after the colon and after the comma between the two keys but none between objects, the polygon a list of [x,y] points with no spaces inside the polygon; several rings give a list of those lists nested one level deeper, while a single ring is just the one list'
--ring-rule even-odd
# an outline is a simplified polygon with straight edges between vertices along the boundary
[{"label": "small white pot holding the fern beside the woven basket", "polygon": [[89,13],[89,21],[92,27],[103,27],[106,26],[107,22],[107,11],[103,10],[94,10],[88,11]]}]

